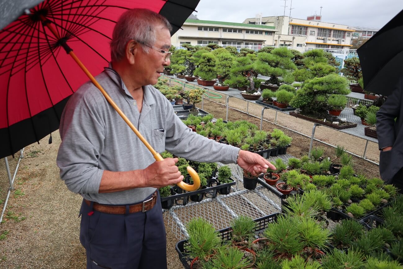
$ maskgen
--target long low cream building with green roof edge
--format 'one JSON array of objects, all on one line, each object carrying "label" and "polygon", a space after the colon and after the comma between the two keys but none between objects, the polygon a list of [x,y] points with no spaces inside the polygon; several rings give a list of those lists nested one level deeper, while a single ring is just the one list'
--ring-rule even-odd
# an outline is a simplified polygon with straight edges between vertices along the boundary
[{"label": "long low cream building with green roof edge", "polygon": [[187,19],[171,37],[173,45],[189,43],[192,45],[215,43],[220,46],[274,45],[276,29],[273,25],[252,25],[224,21],[205,21],[193,16]]}]

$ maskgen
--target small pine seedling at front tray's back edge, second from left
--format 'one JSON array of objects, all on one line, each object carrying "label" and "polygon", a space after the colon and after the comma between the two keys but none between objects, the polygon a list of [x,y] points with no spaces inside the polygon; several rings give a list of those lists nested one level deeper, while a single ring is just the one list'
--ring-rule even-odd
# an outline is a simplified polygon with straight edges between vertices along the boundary
[{"label": "small pine seedling at front tray's back edge, second from left", "polygon": [[257,223],[251,217],[239,216],[230,223],[231,238],[234,242],[253,241]]}]

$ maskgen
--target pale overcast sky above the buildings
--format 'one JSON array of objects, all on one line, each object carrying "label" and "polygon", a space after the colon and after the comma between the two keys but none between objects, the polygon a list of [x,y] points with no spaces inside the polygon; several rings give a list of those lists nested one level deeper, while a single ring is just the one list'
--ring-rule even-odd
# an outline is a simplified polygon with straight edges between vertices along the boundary
[{"label": "pale overcast sky above the buildings", "polygon": [[[283,16],[284,0],[200,0],[196,10],[201,20],[241,23],[254,18]],[[285,4],[285,15],[290,15],[291,0]],[[403,9],[403,0],[293,0],[291,17],[306,19],[320,13],[322,21],[349,26],[381,28]]]}]

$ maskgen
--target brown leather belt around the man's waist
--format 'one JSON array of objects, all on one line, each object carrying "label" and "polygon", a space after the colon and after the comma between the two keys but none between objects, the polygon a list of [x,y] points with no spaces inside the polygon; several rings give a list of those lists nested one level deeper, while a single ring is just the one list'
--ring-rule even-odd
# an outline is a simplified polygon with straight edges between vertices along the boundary
[{"label": "brown leather belt around the man's waist", "polygon": [[[85,200],[85,203],[89,206],[91,205],[91,201]],[[132,204],[129,206],[129,213],[136,212],[147,212],[151,210],[157,201],[157,191],[155,191],[150,199],[145,200],[144,202],[138,204]],[[114,205],[106,205],[106,204],[98,204],[97,202],[93,203],[93,210],[108,213],[108,214],[126,214],[126,206],[114,206]]]}]

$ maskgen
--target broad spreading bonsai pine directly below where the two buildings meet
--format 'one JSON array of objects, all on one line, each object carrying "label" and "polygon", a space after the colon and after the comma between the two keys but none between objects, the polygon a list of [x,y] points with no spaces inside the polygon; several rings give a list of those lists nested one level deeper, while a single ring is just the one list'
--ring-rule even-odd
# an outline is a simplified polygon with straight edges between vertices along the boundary
[{"label": "broad spreading bonsai pine directly below where the two buildings meet", "polygon": [[258,53],[255,70],[265,76],[270,76],[265,84],[280,85],[278,77],[285,75],[285,70],[295,70],[296,66],[291,60],[292,52],[287,48],[276,48],[270,53]]}]

